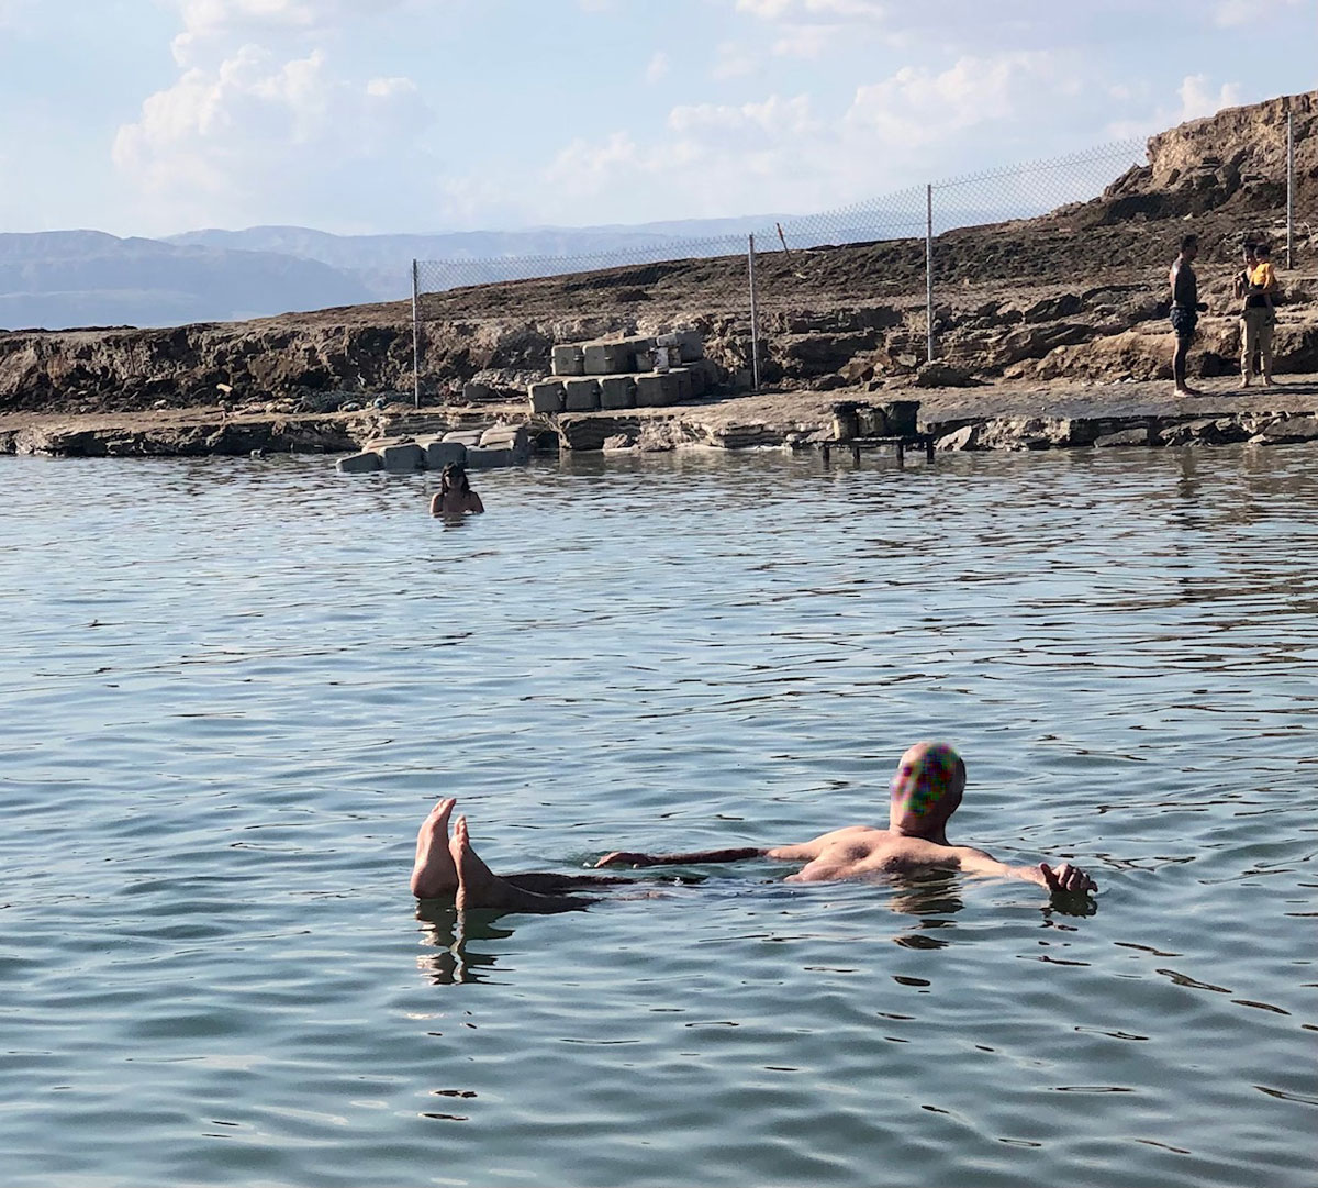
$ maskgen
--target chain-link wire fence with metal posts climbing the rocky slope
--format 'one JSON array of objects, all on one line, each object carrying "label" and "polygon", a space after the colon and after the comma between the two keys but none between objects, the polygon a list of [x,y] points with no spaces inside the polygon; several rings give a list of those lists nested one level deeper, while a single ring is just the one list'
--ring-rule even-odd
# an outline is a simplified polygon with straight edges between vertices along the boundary
[{"label": "chain-link wire fence with metal posts climbing the rocky slope", "polygon": [[[1311,134],[1313,99],[1298,99]],[[1296,128],[1289,113],[1280,124],[1273,134],[1281,150],[1265,153],[1261,169],[1263,181],[1280,185],[1286,202],[1286,227],[1269,233],[1292,245],[1297,224],[1301,237],[1311,233],[1318,195],[1309,173],[1318,177],[1318,170],[1307,170],[1297,187]],[[786,219],[746,237],[656,239],[575,256],[414,261],[416,398],[427,388],[451,390],[471,373],[489,372],[511,386],[523,373],[543,371],[564,335],[680,326],[716,340],[718,361],[753,386],[782,377],[849,382],[854,377],[840,373],[838,361],[880,343],[898,365],[932,361],[953,302],[966,309],[1004,285],[1040,289],[1083,276],[1093,286],[1165,269],[1165,220],[1180,211],[1159,206],[1159,195],[1141,189],[1151,170],[1147,148],[1128,140],[931,182]],[[1218,182],[1223,170],[1236,169],[1231,178],[1240,186],[1252,177],[1242,177],[1242,167],[1260,167],[1205,156],[1201,173],[1209,166],[1217,167]],[[1194,214],[1197,200],[1209,202],[1209,173],[1153,181],[1178,185],[1177,200]],[[1023,228],[1020,220],[1031,222]],[[1156,239],[1131,235],[1144,222],[1157,224]],[[469,326],[461,349],[445,340],[464,319],[493,315],[521,318],[522,340],[482,343]]]}]

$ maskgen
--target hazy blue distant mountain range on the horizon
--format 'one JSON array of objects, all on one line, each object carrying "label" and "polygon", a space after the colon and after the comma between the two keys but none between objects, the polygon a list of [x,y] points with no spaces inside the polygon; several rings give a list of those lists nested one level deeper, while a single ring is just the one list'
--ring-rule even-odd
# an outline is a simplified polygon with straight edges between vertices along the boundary
[{"label": "hazy blue distant mountain range on the horizon", "polygon": [[448,235],[328,235],[308,227],[119,239],[0,233],[0,328],[179,326],[401,301],[416,260],[621,252],[739,236],[780,215]]}]

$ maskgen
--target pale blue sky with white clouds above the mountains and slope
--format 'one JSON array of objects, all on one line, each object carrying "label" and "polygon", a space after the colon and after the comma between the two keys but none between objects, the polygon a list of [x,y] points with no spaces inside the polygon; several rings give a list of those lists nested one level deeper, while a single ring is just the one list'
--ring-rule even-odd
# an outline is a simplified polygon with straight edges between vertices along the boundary
[{"label": "pale blue sky with white clouds above the mountains and slope", "polygon": [[0,0],[0,232],[829,210],[1318,86],[1318,0]]}]

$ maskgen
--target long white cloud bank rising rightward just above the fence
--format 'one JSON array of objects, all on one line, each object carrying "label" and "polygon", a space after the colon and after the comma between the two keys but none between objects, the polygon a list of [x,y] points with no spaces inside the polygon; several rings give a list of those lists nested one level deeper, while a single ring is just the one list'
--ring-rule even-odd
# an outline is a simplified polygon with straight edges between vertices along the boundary
[{"label": "long white cloud bank rising rightward just above the fence", "polygon": [[[833,111],[808,92],[680,104],[652,145],[622,132],[568,145],[540,187],[558,203],[543,218],[622,206],[634,219],[826,211],[1065,152],[1041,137],[1087,113],[1095,92],[1115,107],[1099,82],[1064,51],[1012,50],[905,66]],[[1040,111],[1050,120],[1041,124]]]}]

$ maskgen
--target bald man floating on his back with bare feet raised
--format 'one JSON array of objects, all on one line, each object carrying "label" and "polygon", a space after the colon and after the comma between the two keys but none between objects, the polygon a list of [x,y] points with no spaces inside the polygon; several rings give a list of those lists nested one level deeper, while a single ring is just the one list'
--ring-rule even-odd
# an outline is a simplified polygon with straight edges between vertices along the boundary
[{"label": "bald man floating on his back with bare feet raised", "polygon": [[[828,882],[915,874],[927,870],[963,870],[1037,883],[1050,894],[1082,894],[1097,890],[1078,866],[1046,862],[1008,866],[982,849],[953,845],[946,827],[961,804],[966,765],[946,742],[917,742],[898,763],[888,803],[888,827],[847,825],[799,845],[768,848],[737,846],[680,854],[647,854],[614,850],[596,866],[660,866],[699,862],[735,862],[742,858],[775,858],[803,862],[787,882]],[[411,889],[419,899],[455,897],[459,908],[485,907],[502,911],[573,911],[596,902],[571,894],[581,887],[626,883],[630,879],[597,874],[513,874],[501,877],[472,849],[467,817],[459,817],[448,837],[453,800],[440,800],[416,836],[416,864]]]}]

